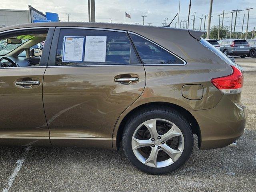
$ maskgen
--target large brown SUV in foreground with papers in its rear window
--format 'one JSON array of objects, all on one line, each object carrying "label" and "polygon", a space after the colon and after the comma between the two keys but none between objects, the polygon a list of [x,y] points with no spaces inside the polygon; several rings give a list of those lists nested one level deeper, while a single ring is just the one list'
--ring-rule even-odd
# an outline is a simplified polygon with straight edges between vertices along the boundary
[{"label": "large brown SUV in foreground with papers in its rear window", "polygon": [[[244,132],[243,75],[202,32],[103,23],[0,29],[0,144],[117,150],[170,172]],[[44,42],[43,49],[33,46]]]}]

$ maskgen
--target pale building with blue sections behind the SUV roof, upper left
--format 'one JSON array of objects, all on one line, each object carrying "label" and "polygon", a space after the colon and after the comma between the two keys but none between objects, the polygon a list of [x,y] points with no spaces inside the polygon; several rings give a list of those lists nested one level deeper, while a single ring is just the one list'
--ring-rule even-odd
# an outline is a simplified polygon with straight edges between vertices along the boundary
[{"label": "pale building with blue sections behind the SUV roof, upper left", "polygon": [[23,23],[58,21],[57,13],[46,12],[43,14],[32,6],[28,6],[28,10],[0,9],[0,28]]}]

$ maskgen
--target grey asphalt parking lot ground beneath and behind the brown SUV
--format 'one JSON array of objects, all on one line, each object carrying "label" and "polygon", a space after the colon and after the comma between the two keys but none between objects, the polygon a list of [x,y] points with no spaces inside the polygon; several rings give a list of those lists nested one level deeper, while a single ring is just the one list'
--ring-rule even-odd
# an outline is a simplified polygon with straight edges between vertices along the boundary
[{"label": "grey asphalt parking lot ground beneath and behind the brown SUV", "polygon": [[256,191],[256,58],[236,61],[246,69],[242,101],[249,112],[236,148],[199,151],[195,138],[194,152],[184,166],[154,176],[134,168],[122,150],[0,146],[0,188],[11,184],[9,192]]}]

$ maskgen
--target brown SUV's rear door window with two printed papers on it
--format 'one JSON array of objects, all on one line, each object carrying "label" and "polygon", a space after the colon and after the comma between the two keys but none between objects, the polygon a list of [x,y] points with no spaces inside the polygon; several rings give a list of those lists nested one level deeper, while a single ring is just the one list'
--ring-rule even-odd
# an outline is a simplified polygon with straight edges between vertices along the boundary
[{"label": "brown SUV's rear door window with two printed papers on it", "polygon": [[[79,37],[84,38],[84,47],[86,47],[87,42],[92,37],[102,37],[104,40],[103,44],[106,46],[105,53],[102,55],[101,60],[97,60],[94,56],[95,52],[84,48],[83,58],[81,62],[76,61],[65,61],[63,59],[64,54],[68,53],[64,49],[64,37]],[[95,44],[94,48],[97,50],[98,45]],[[94,61],[86,61],[86,56],[94,57]],[[102,61],[104,60],[104,61]],[[56,52],[56,66],[66,66],[66,65],[123,65],[123,64],[139,64],[138,58],[132,48],[130,40],[125,32],[116,32],[116,31],[104,31],[104,30],[87,30],[87,29],[61,29],[60,36],[58,40],[58,48]]]}]

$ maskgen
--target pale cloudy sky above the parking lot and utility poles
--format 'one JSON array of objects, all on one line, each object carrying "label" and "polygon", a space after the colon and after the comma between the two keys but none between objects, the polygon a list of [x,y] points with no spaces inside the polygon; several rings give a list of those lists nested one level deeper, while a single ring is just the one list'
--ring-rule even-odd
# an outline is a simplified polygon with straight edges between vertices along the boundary
[{"label": "pale cloudy sky above the parking lot and utility poles", "polygon": [[[21,9],[28,10],[28,5],[37,10],[45,12],[55,12],[59,14],[61,21],[68,21],[66,13],[70,13],[70,21],[88,22],[88,0],[1,0],[0,9]],[[131,18],[126,18],[127,24],[142,24],[141,15],[146,15],[144,24],[163,26],[165,18],[170,22],[178,13],[179,0],[95,0],[96,22],[113,23],[124,22],[125,12],[131,15]],[[180,20],[188,19],[189,0],[180,0]],[[242,10],[237,15],[236,32],[242,30],[242,22],[247,24],[248,10],[252,7],[249,16],[248,31],[256,27],[256,0],[213,0],[212,6],[212,25],[218,25],[219,16],[225,10],[224,25],[231,25],[232,10]],[[208,15],[210,8],[210,0],[191,0],[190,10],[190,26],[192,28],[192,19],[195,16],[195,29],[200,29],[200,18],[202,15]],[[234,14],[235,17],[235,14]],[[178,22],[178,16],[172,22],[172,27]],[[222,22],[222,16],[221,16]],[[186,24],[186,22],[185,22]],[[177,25],[177,24],[176,24]],[[206,17],[206,29],[208,18]],[[233,18],[234,26],[234,18]],[[182,22],[183,27],[183,22]],[[204,19],[202,19],[202,29],[204,28]],[[246,27],[244,26],[244,32]]]}]

